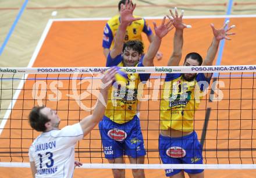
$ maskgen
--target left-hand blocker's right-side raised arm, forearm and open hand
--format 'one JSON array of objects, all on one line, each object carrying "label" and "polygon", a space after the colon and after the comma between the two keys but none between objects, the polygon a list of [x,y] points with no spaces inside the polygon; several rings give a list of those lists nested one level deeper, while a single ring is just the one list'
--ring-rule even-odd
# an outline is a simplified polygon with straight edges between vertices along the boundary
[{"label": "left-hand blocker's right-side raised arm, forearm and open hand", "polygon": [[147,54],[145,54],[143,59],[143,65],[144,66],[153,66],[153,60],[155,55],[158,52],[158,49],[161,45],[162,38],[168,34],[170,30],[173,29],[172,26],[172,20],[169,20],[167,23],[165,23],[166,17],[163,17],[162,24],[157,27],[157,24],[153,22],[154,24],[154,30],[155,30],[155,36],[154,40],[151,42],[150,47],[148,48]]}]

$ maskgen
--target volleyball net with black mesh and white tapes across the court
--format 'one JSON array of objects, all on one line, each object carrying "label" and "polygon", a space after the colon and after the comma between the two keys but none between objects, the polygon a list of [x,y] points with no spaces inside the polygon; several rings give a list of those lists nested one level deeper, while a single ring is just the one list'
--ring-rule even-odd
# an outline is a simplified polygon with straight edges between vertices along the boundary
[{"label": "volleyball net with black mesh and white tapes across the court", "polygon": [[[125,157],[125,164],[108,164],[97,126],[75,148],[76,159],[84,164],[83,168],[256,168],[256,66],[123,68],[127,73],[151,73],[150,79],[142,83],[138,89],[141,91],[137,92],[141,102],[137,113],[147,152],[145,163],[130,164]],[[98,101],[99,73],[106,69],[0,68],[0,166],[29,167],[29,147],[40,134],[29,126],[28,115],[33,106],[55,109],[61,118],[61,128],[91,115]],[[191,118],[202,145],[202,165],[163,165],[161,162],[158,148],[160,102],[168,73],[214,73]]]}]

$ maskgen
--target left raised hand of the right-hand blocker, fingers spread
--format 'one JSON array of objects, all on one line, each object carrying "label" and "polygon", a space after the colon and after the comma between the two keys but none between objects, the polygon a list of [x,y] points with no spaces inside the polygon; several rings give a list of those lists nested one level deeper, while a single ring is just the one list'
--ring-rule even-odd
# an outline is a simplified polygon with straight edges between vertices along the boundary
[{"label": "left raised hand of the right-hand blocker, fingers spread", "polygon": [[171,17],[168,16],[168,15],[167,15],[167,17],[169,19],[173,20],[173,26],[175,27],[175,29],[176,30],[178,30],[178,29],[183,30],[185,28],[191,28],[190,25],[184,24],[183,21],[182,21],[182,17],[184,15],[184,10],[182,10],[182,13],[179,16],[177,8],[174,8],[174,9],[175,9],[175,15],[173,14],[172,10],[169,9]]}]

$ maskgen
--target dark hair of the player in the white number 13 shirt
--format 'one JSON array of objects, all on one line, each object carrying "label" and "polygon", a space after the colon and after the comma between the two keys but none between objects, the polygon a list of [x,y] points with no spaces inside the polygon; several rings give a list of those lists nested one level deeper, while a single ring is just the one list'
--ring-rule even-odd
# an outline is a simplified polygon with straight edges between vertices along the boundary
[{"label": "dark hair of the player in the white number 13 shirt", "polygon": [[50,119],[47,118],[40,111],[44,109],[45,106],[34,106],[34,108],[29,113],[29,124],[30,126],[37,131],[45,131],[45,123],[49,122]]}]

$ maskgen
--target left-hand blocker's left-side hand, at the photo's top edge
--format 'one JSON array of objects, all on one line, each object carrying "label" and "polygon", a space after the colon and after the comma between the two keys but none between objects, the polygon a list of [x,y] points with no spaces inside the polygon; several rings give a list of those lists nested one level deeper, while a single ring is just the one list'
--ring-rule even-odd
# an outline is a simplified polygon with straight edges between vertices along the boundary
[{"label": "left-hand blocker's left-side hand, at the photo's top edge", "polygon": [[133,17],[133,10],[136,8],[136,3],[132,3],[132,1],[126,1],[125,5],[121,5],[120,9],[120,16],[121,16],[121,23],[130,24],[135,20],[140,20],[141,18],[134,18]]}]

